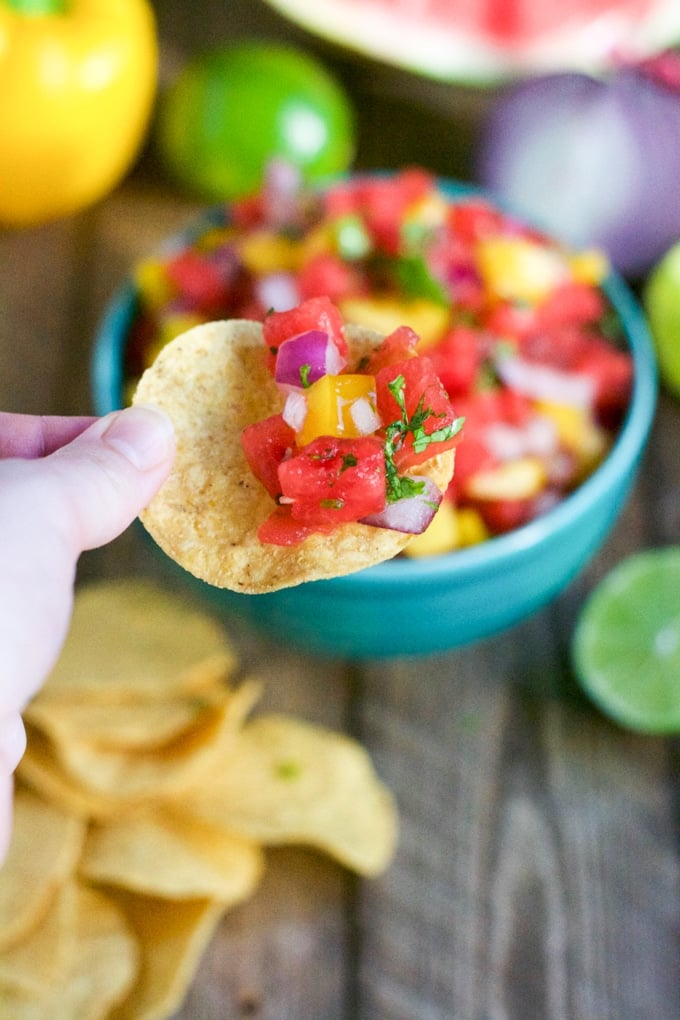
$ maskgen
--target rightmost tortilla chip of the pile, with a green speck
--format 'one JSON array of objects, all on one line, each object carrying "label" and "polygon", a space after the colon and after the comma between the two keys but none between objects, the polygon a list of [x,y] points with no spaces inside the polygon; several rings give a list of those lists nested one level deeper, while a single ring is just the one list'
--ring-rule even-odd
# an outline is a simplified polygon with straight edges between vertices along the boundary
[{"label": "rightmost tortilla chip of the pile, with a green speck", "polygon": [[385,869],[397,840],[395,803],[361,745],[293,716],[247,723],[182,811],[265,845],[316,847],[364,875]]}]

